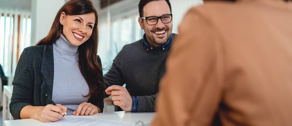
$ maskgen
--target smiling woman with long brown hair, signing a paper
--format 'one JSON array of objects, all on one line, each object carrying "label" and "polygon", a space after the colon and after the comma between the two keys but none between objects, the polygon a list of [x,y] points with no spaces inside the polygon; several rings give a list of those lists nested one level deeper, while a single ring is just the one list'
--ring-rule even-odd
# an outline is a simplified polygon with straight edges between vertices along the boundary
[{"label": "smiling woman with long brown hair, signing a paper", "polygon": [[58,11],[48,36],[23,50],[10,103],[15,119],[54,122],[63,115],[102,112],[104,88],[96,55],[97,23],[98,15],[90,0],[70,0]]}]

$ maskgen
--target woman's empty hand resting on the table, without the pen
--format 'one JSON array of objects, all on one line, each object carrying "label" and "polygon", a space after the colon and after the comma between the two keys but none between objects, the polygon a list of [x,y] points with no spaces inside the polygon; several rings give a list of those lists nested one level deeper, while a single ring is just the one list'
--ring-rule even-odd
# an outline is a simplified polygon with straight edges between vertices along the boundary
[{"label": "woman's empty hand resting on the table, without the pen", "polygon": [[83,102],[81,103],[77,110],[73,112],[74,115],[78,116],[78,115],[93,115],[95,113],[100,112],[100,108],[98,108],[97,106],[88,103],[88,102]]}]

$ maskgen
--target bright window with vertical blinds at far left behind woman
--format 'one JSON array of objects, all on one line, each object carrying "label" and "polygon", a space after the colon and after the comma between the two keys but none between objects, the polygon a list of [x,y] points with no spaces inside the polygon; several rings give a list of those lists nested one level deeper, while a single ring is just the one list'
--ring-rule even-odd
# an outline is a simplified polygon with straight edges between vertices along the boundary
[{"label": "bright window with vertical blinds at far left behind woman", "polygon": [[0,12],[0,64],[4,74],[14,75],[22,50],[30,46],[29,13]]}]

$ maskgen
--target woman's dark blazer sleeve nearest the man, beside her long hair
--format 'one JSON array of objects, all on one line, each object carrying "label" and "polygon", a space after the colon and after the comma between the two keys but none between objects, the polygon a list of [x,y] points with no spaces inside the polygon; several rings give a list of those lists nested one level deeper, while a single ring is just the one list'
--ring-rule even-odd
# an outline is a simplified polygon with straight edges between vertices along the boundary
[{"label": "woman's dark blazer sleeve nearest the man, beside her long hair", "polygon": [[[100,60],[100,57],[97,56],[97,62],[98,64],[100,65],[100,67],[102,68],[102,64],[101,64],[101,60]],[[99,82],[101,82],[102,86],[100,86],[100,88],[98,89],[98,96],[96,98],[96,100],[94,101],[88,101],[90,103],[92,103],[93,105],[97,106],[98,108],[100,108],[100,111],[103,112],[103,108],[104,108],[104,105],[103,105],[103,99],[104,99],[104,92],[105,92],[105,87],[103,86],[104,84],[104,81],[103,81],[103,73],[102,73],[102,70],[101,70],[101,75],[99,77]]]}]

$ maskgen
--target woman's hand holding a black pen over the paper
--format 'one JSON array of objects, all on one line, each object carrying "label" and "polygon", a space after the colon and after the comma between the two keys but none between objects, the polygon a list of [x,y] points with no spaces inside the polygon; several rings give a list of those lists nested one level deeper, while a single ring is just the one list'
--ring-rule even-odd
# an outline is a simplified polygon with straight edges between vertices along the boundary
[{"label": "woman's hand holding a black pen over the paper", "polygon": [[67,108],[61,104],[54,106],[48,104],[46,106],[40,106],[34,114],[34,118],[41,122],[55,122],[63,118],[63,115],[67,115]]}]

